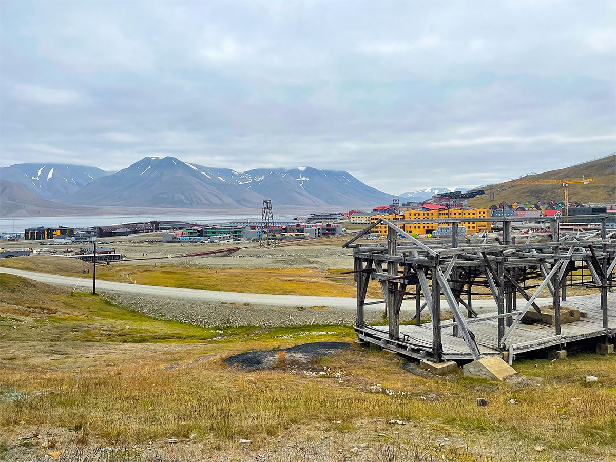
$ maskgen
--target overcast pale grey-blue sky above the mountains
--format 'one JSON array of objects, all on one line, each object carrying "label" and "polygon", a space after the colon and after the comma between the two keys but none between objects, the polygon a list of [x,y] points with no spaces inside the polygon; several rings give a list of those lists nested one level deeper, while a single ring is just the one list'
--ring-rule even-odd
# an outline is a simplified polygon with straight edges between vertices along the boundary
[{"label": "overcast pale grey-blue sky above the mountains", "polygon": [[616,150],[616,2],[0,2],[1,159],[341,169],[389,193]]}]

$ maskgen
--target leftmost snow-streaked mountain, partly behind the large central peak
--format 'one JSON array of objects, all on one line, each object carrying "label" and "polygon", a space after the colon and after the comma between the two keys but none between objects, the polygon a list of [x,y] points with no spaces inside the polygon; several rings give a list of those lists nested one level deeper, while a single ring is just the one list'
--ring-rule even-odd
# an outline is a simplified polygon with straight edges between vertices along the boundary
[{"label": "leftmost snow-streaked mountain, partly behind the large central peak", "polygon": [[39,197],[56,199],[73,194],[108,173],[96,167],[71,164],[23,163],[0,168],[0,178],[12,181]]}]

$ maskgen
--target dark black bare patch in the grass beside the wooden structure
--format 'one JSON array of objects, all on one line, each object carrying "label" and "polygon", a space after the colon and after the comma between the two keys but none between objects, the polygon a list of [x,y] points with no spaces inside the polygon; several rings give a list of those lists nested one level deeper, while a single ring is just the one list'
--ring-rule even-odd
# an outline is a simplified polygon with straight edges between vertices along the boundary
[{"label": "dark black bare patch in the grass beside the wooden structure", "polygon": [[309,363],[318,357],[334,354],[351,345],[346,342],[304,343],[278,350],[246,351],[224,360],[229,366],[238,366],[247,371],[272,369],[280,365]]}]

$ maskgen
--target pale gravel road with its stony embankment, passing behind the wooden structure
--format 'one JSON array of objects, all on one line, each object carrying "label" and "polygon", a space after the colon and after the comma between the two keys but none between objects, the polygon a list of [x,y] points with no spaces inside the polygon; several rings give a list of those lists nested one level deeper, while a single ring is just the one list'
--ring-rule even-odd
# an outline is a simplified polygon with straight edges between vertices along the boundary
[{"label": "pale gravel road with its stony embankment, passing behind the wooden structure", "polygon": [[[0,267],[0,272],[15,274],[39,282],[75,287],[79,278],[37,273]],[[79,289],[87,290],[89,285],[80,282]],[[105,294],[110,301],[160,319],[172,319],[201,326],[291,326],[311,324],[352,324],[355,321],[354,298],[320,297],[298,295],[251,294],[222,292],[174,287],[147,286],[111,281],[97,281],[97,291]],[[575,297],[570,297],[574,299]],[[374,301],[373,299],[367,299]],[[519,299],[518,306],[524,306]],[[551,302],[549,298],[538,298],[539,304]],[[442,306],[447,306],[442,302]],[[473,307],[479,313],[494,311],[493,300],[475,300]],[[378,322],[383,305],[365,307],[368,323]],[[415,302],[403,303],[401,320],[409,319],[415,313]]]}]

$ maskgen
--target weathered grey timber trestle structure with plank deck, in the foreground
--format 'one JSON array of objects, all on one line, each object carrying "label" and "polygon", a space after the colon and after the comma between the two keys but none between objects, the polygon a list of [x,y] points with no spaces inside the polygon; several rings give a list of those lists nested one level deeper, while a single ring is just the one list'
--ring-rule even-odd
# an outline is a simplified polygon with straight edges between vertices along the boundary
[{"label": "weathered grey timber trestle structure with plank deck, in the foreground", "polygon": [[[601,230],[570,234],[559,233],[564,217],[542,217],[541,221],[550,224],[551,241],[545,242],[543,233],[523,235],[522,243],[511,233],[513,222],[527,221],[522,218],[380,219],[343,245],[354,249],[358,338],[432,362],[509,352],[511,363],[521,352],[563,347],[567,342],[594,337],[608,342],[616,336],[616,294],[608,294],[614,286],[616,238],[612,236],[616,237],[616,231],[607,229],[607,216],[591,217],[602,222]],[[488,238],[460,238],[458,224],[473,220],[501,224],[502,238],[490,242]],[[407,223],[452,224],[452,238],[433,240],[428,246],[398,227]],[[355,243],[379,224],[387,225],[386,243]],[[379,282],[383,300],[365,301],[370,280]],[[552,294],[556,325],[521,323],[528,310],[539,311],[535,299],[546,286]],[[588,316],[561,325],[561,301],[567,301],[567,287],[572,286],[598,288],[600,294],[567,302],[567,307],[578,307]],[[477,287],[490,290],[495,312],[478,315],[473,309]],[[442,320],[441,295],[452,320]],[[416,325],[400,326],[400,309],[406,300],[415,300]],[[373,304],[384,304],[389,325],[365,324],[364,307]],[[421,312],[426,308],[431,322],[422,323]]]}]

